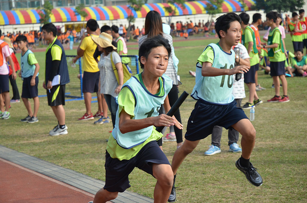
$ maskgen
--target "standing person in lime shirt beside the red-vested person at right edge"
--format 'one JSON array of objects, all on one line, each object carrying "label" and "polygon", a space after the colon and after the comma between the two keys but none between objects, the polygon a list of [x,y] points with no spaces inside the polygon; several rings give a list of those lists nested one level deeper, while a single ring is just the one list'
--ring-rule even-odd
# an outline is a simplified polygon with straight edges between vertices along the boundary
[{"label": "standing person in lime shirt beside the red-vested person at right edge", "polygon": [[296,12],[292,13],[292,21],[289,22],[289,31],[291,31],[291,40],[295,54],[296,50],[303,49],[303,30]]}]

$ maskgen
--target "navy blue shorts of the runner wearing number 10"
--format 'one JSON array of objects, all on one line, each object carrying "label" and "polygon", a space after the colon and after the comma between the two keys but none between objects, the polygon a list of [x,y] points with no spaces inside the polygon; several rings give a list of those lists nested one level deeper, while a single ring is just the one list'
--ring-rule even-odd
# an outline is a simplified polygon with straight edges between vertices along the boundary
[{"label": "navy blue shorts of the runner wearing number 10", "polygon": [[227,105],[198,100],[188,120],[185,139],[189,141],[202,140],[212,134],[214,126],[232,129],[231,126],[242,119],[248,118],[243,109],[236,106],[235,100]]}]

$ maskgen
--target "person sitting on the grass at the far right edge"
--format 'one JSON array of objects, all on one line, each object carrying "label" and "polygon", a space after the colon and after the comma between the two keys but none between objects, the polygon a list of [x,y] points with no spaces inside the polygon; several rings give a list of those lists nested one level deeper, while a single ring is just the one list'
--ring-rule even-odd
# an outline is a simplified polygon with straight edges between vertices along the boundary
[{"label": "person sitting on the grass at the far right edge", "polygon": [[289,73],[292,77],[293,74],[295,76],[307,76],[306,70],[307,70],[307,57],[303,55],[303,50],[298,49],[295,53],[295,56],[292,60],[292,67],[290,69]]}]

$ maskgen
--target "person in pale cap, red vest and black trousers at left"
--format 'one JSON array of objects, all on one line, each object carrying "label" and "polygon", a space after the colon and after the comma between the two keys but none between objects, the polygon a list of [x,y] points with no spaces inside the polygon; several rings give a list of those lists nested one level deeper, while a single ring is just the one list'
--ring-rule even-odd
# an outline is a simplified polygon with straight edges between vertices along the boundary
[{"label": "person in pale cap, red vest and black trousers at left", "polygon": [[[9,50],[10,50],[11,57],[12,57],[13,62],[14,62],[15,72],[17,72],[17,71],[20,70],[20,66],[19,66],[19,62],[18,62],[18,60],[15,56],[15,50],[14,50],[13,44],[11,42],[11,39],[9,37],[4,37],[3,41],[5,41],[9,44]],[[14,80],[13,77],[12,77],[12,73],[13,73],[12,67],[9,66],[9,68],[10,68],[9,79],[10,79],[10,83],[11,83],[12,90],[13,90],[13,97],[12,97],[10,103],[19,103],[20,102],[20,96],[19,96],[19,91],[18,91],[18,87],[17,87],[17,84],[16,84],[16,80]]]}]

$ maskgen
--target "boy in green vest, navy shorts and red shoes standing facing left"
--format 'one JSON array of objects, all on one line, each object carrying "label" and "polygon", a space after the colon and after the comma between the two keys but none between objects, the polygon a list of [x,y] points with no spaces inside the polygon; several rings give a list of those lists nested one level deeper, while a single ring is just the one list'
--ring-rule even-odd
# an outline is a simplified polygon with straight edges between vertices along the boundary
[{"label": "boy in green vest, navy shorts and red shoes standing facing left", "polygon": [[[270,59],[271,76],[273,77],[275,85],[275,96],[268,100],[268,102],[289,102],[290,99],[287,95],[288,83],[286,79],[286,71],[284,69],[284,63],[286,61],[286,55],[284,55],[284,48],[282,43],[282,37],[276,20],[278,18],[277,12],[269,12],[266,15],[267,24],[271,27],[270,34],[268,36],[268,45],[261,45],[260,48],[268,49],[268,56]],[[282,82],[283,97],[280,97],[279,79]]]}]

